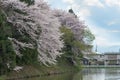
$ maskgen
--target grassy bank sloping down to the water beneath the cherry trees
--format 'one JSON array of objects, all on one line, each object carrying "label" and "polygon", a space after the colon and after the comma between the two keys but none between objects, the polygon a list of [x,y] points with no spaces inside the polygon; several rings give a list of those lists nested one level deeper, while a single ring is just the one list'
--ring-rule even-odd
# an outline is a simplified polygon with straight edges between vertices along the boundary
[{"label": "grassy bank sloping down to the water beneath the cherry trees", "polygon": [[49,67],[46,67],[42,64],[25,65],[23,70],[20,70],[19,72],[12,71],[7,75],[6,78],[8,80],[15,80],[18,78],[49,76],[74,71],[77,71],[77,68],[67,59],[62,58],[58,60],[58,63],[56,65],[51,65]]}]

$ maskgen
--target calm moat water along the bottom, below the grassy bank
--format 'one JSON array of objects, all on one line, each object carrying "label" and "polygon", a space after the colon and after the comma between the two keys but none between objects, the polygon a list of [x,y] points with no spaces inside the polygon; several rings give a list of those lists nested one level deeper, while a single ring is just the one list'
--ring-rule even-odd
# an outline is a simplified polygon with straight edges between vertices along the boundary
[{"label": "calm moat water along the bottom, below the grassy bank", "polygon": [[78,73],[65,73],[28,80],[120,80],[120,68],[86,68]]}]

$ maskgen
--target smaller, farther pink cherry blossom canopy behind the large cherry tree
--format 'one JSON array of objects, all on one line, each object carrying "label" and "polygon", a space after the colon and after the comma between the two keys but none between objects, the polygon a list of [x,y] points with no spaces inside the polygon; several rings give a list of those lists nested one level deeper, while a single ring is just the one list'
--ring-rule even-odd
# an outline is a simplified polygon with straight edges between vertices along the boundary
[{"label": "smaller, farther pink cherry blossom canopy behind the large cherry tree", "polygon": [[84,29],[87,27],[84,24],[84,21],[80,21],[75,14],[68,13],[62,10],[54,10],[54,16],[59,18],[61,25],[66,26],[68,29],[71,29],[74,37],[79,40],[83,41],[83,32]]}]

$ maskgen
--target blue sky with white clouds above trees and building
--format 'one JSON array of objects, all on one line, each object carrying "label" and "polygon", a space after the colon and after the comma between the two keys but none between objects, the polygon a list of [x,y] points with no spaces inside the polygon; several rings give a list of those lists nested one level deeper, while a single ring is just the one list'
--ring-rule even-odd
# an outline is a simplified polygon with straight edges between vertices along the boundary
[{"label": "blue sky with white clouds above trees and building", "polygon": [[53,9],[73,9],[95,35],[98,52],[120,51],[120,0],[45,0]]}]

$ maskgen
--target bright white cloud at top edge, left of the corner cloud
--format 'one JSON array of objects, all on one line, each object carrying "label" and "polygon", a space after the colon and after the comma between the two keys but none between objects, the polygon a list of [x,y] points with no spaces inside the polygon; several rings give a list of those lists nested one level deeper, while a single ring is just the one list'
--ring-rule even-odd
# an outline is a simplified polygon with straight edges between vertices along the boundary
[{"label": "bright white cloud at top edge, left of the corner cloud", "polygon": [[104,5],[100,2],[100,0],[84,0],[84,4],[87,6],[97,6],[97,7],[104,7]]}]

